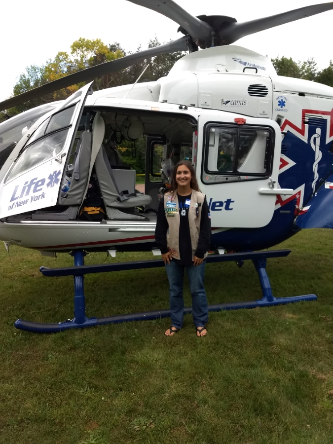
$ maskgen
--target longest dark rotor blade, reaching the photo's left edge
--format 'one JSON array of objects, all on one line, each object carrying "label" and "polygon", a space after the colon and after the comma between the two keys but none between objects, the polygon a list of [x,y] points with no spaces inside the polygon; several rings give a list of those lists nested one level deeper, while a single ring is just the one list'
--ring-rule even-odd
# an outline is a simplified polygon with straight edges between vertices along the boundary
[{"label": "longest dark rotor blade, reaching the photo's left edge", "polygon": [[0,111],[8,108],[16,107],[29,100],[37,99],[59,89],[67,88],[75,83],[85,82],[93,80],[96,77],[102,77],[105,74],[114,73],[116,71],[128,68],[131,65],[142,62],[145,59],[156,57],[160,54],[168,54],[176,51],[188,51],[186,44],[188,37],[181,37],[177,40],[170,41],[164,45],[155,46],[153,48],[146,49],[144,51],[135,52],[129,54],[120,59],[111,60],[111,62],[101,63],[100,65],[86,68],[85,70],[78,71],[77,73],[67,75],[65,77],[54,80],[53,82],[45,83],[37,88],[26,91],[17,96],[13,96],[3,102],[0,102]]}]

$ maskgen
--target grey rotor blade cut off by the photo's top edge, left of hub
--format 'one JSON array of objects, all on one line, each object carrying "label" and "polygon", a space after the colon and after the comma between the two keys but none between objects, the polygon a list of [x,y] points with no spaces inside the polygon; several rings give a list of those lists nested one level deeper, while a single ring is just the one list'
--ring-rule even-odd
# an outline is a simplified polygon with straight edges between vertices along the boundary
[{"label": "grey rotor blade cut off by the photo's top edge, left of hub", "polygon": [[[140,6],[159,12],[181,25],[188,34],[198,40],[208,41],[214,35],[213,28],[206,22],[189,14],[172,0],[128,0]],[[212,34],[213,33],[213,34]]]}]

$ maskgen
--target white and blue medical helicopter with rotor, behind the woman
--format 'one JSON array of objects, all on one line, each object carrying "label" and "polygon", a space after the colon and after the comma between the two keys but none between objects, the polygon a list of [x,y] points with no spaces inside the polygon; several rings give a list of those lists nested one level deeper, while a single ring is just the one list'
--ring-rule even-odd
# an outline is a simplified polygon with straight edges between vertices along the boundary
[{"label": "white and blue medical helicopter with rotor, behind the woman", "polygon": [[[267,57],[229,45],[331,10],[333,2],[238,23],[193,17],[171,0],[129,1],[171,18],[184,36],[0,103],[6,110],[88,82],[65,101],[0,123],[0,239],[6,248],[46,256],[75,250],[158,255],[159,199],[183,158],[207,196],[212,250],[262,250],[301,228],[333,228],[333,88],[279,76]],[[175,51],[188,54],[157,81],[92,89],[97,76]],[[140,192],[136,172],[121,163],[117,147],[143,136]],[[99,205],[87,202],[91,188]],[[86,219],[84,208],[93,208]]]}]

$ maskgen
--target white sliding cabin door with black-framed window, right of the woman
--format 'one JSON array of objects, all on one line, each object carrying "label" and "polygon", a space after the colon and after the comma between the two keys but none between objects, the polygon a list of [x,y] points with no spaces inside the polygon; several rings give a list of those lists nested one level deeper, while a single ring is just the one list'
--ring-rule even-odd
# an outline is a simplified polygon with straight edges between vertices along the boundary
[{"label": "white sliding cabin door with black-framed window, right of the woman", "polygon": [[231,113],[199,117],[199,187],[207,196],[212,227],[262,227],[271,221],[281,194],[280,128],[268,119],[246,116],[245,124],[235,120]]}]

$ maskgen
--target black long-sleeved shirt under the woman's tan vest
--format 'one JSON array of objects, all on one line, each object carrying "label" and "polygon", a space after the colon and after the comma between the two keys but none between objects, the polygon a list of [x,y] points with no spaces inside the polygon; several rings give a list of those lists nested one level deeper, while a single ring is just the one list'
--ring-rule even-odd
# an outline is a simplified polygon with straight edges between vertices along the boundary
[{"label": "black long-sleeved shirt under the woman's tan vest", "polygon": [[[191,200],[191,194],[189,194],[188,196],[180,196],[178,194],[179,214],[180,214],[179,253],[181,259],[175,259],[175,260],[178,260],[178,263],[183,265],[189,265],[192,263],[192,246],[191,246],[191,236],[188,223],[188,210],[190,207],[189,204],[190,200]],[[163,198],[161,199],[158,207],[156,229],[155,229],[155,240],[162,254],[165,254],[169,251],[166,240],[166,233],[168,231],[168,228],[169,225],[167,218],[165,217],[164,198]],[[201,208],[198,248],[194,253],[194,255],[197,258],[203,259],[205,253],[209,251],[211,243],[211,233],[212,233],[211,221],[208,211],[207,199],[205,196],[205,200]]]}]

